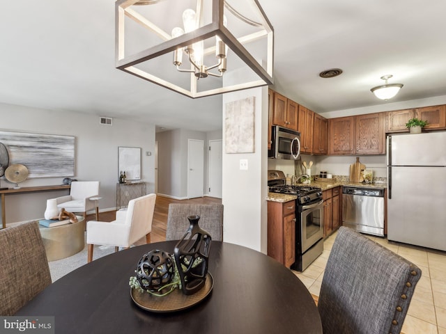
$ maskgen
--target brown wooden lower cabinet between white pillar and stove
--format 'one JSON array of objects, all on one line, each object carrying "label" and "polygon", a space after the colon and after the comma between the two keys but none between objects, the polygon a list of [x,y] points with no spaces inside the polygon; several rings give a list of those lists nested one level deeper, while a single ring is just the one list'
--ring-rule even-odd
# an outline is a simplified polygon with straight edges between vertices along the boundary
[{"label": "brown wooden lower cabinet between white pillar and stove", "polygon": [[268,255],[287,268],[295,262],[295,200],[268,201]]}]

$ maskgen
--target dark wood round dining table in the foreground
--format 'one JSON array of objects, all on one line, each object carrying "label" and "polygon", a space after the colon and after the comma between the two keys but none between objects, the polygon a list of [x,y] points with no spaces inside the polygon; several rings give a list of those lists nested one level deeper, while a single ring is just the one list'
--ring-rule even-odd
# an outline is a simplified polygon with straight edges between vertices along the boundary
[{"label": "dark wood round dining table in the foreground", "polygon": [[54,316],[55,333],[63,334],[322,333],[312,296],[292,271],[256,250],[220,241],[211,244],[213,289],[205,299],[176,312],[143,310],[130,296],[129,278],[142,255],[174,253],[175,244],[101,257],[56,280],[16,315]]}]

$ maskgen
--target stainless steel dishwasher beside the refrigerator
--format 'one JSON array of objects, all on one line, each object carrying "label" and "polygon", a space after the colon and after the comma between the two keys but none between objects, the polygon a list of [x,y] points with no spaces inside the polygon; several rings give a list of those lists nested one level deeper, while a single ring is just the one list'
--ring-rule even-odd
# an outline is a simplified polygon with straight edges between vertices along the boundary
[{"label": "stainless steel dishwasher beside the refrigerator", "polygon": [[384,189],[343,186],[342,225],[384,236]]}]

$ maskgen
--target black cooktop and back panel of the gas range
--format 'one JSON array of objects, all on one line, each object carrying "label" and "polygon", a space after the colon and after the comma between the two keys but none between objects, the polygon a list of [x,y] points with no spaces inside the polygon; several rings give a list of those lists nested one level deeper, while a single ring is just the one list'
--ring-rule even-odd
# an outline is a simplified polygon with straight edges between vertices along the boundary
[{"label": "black cooktop and back panel of the gas range", "polygon": [[286,193],[298,196],[298,205],[308,205],[322,198],[322,189],[317,186],[287,185],[281,170],[268,170],[268,187],[271,193]]}]

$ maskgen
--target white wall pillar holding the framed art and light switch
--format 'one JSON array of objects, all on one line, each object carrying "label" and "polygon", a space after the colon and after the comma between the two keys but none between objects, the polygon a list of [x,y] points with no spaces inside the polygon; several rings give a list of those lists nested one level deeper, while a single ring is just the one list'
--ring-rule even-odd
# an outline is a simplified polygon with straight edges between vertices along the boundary
[{"label": "white wall pillar holding the framed art and light switch", "polygon": [[[223,128],[226,103],[252,96],[255,97],[255,152],[226,154],[226,138],[223,133],[223,239],[267,253],[268,88],[224,94]],[[248,170],[240,170],[240,159],[247,159]]]}]

